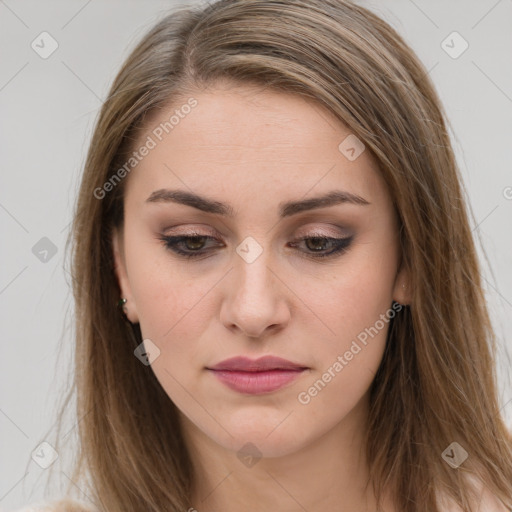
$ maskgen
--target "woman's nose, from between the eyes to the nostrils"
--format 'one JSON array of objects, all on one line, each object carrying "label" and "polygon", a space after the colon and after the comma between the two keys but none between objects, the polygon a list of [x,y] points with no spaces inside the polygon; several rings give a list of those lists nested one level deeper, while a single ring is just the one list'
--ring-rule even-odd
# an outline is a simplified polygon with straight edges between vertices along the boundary
[{"label": "woman's nose, from between the eyes to the nostrils", "polygon": [[250,338],[282,330],[290,320],[291,292],[266,253],[252,263],[235,254],[234,268],[224,282],[221,322]]}]

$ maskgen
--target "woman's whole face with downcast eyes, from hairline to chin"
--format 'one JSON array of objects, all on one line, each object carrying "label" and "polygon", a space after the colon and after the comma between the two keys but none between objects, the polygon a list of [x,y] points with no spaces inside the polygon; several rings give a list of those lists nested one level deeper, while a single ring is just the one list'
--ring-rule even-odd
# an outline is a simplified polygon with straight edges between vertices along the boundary
[{"label": "woman's whole face with downcast eyes, from hairline to chin", "polygon": [[[186,431],[289,454],[365,404],[406,302],[395,213],[369,151],[317,104],[248,86],[194,98],[140,138],[155,145],[126,178],[121,292]],[[291,366],[218,369],[239,356]]]}]

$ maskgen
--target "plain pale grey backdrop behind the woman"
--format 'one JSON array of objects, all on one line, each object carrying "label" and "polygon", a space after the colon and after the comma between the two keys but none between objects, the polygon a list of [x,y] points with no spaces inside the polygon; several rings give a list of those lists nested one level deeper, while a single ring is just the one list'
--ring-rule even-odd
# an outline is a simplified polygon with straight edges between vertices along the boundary
[{"label": "plain pale grey backdrop behind the woman", "polygon": [[[446,109],[473,234],[488,256],[489,264],[479,249],[500,342],[500,401],[512,424],[512,1],[360,3],[412,46]],[[1,510],[43,496],[48,470],[31,456],[55,423],[72,357],[64,245],[94,121],[130,49],[172,5],[0,0]],[[58,48],[42,58],[51,44]]]}]

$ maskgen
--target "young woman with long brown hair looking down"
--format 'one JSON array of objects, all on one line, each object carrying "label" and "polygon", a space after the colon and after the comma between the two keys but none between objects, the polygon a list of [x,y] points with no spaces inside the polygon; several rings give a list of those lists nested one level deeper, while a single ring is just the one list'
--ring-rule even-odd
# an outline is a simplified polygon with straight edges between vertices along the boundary
[{"label": "young woman with long brown hair looking down", "polygon": [[97,510],[512,507],[445,114],[370,11],[165,17],[103,105],[73,233],[70,488]]}]

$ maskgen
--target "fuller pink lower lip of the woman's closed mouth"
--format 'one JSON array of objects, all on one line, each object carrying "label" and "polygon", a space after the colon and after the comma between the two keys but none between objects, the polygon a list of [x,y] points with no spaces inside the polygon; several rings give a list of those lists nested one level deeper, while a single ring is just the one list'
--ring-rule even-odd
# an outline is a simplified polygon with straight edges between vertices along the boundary
[{"label": "fuller pink lower lip of the woman's closed mouth", "polygon": [[226,386],[239,393],[258,395],[270,393],[286,386],[299,377],[304,370],[269,370],[262,372],[240,372],[211,370]]}]

